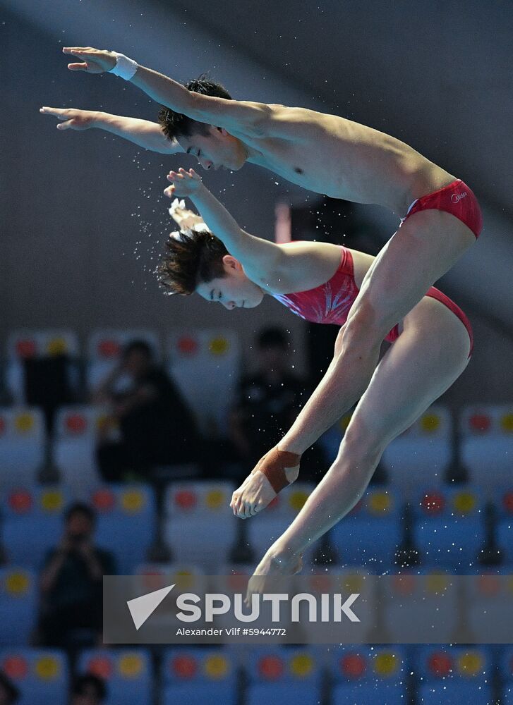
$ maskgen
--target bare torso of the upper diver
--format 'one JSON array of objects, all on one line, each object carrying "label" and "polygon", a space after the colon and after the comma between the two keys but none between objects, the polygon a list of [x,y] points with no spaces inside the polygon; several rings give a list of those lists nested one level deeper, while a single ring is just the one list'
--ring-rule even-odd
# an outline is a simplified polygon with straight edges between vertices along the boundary
[{"label": "bare torso of the upper diver", "polygon": [[262,133],[232,130],[248,161],[332,198],[375,203],[403,216],[454,176],[395,137],[340,116],[270,105]]}]

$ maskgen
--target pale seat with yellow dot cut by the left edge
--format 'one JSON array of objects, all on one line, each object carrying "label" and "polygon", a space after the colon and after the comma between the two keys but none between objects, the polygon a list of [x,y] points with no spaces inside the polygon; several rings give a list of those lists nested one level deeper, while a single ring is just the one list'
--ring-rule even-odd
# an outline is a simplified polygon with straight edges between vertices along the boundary
[{"label": "pale seat with yellow dot cut by the left edge", "polygon": [[0,488],[37,482],[44,464],[46,429],[35,407],[0,408]]}]

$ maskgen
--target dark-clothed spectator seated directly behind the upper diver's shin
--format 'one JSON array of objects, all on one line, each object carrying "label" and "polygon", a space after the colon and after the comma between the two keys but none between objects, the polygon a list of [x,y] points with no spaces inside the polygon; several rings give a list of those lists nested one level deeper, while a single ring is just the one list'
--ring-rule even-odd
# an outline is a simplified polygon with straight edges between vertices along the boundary
[{"label": "dark-clothed spectator seated directly behind the upper diver's shin", "polygon": [[[230,439],[241,460],[253,467],[291,427],[310,396],[305,380],[289,370],[289,339],[279,328],[267,328],[258,336],[258,369],[239,382],[237,401],[230,415]],[[301,480],[313,479],[322,470],[322,452],[313,446],[301,460]],[[324,470],[327,470],[325,467]]]}]

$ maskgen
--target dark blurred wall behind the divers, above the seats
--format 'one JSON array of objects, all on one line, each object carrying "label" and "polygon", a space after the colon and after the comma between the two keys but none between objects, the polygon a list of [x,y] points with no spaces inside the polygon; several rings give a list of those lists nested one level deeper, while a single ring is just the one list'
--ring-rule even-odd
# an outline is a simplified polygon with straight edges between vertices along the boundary
[{"label": "dark blurred wall behind the divers, above the seats", "polygon": [[[303,323],[273,300],[251,312],[167,298],[152,269],[171,229],[162,190],[188,157],[146,152],[98,130],[59,133],[42,105],[155,119],[157,105],[110,75],[72,74],[61,47],[108,47],[188,80],[210,71],[236,98],[300,104],[385,130],[463,178],[485,231],[442,281],[476,328],[476,353],[453,394],[511,398],[513,330],[511,36],[500,0],[294,0],[194,4],[147,0],[2,0],[0,335],[21,326],[234,327],[248,348],[264,322]],[[272,238],[274,204],[317,196],[248,165],[206,183],[241,226]],[[384,242],[397,217],[358,213]],[[294,233],[293,233],[294,234]],[[342,242],[341,238],[341,242]],[[490,364],[493,355],[494,364]]]}]

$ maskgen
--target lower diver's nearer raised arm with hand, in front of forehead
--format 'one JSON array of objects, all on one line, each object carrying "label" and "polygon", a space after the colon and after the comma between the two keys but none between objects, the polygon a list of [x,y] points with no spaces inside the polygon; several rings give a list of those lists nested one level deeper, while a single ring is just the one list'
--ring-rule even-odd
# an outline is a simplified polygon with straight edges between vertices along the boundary
[{"label": "lower diver's nearer raised arm with hand, in front of forehead", "polygon": [[248,277],[255,283],[270,286],[272,290],[279,281],[279,272],[285,260],[282,248],[243,231],[193,169],[170,171],[167,178],[171,186],[164,193],[169,197],[190,198],[209,230],[222,240],[232,257],[239,259]]}]

